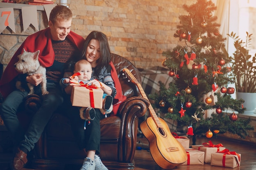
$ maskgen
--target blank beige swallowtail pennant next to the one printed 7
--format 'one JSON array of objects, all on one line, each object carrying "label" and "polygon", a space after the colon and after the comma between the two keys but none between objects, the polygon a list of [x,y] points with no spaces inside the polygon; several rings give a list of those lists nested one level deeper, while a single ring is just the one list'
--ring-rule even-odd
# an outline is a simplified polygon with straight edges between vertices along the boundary
[{"label": "blank beige swallowtail pennant next to the one printed 7", "polygon": [[31,7],[21,7],[21,14],[24,32],[27,30],[30,24],[32,24],[35,29],[39,31],[36,5],[31,5]]}]

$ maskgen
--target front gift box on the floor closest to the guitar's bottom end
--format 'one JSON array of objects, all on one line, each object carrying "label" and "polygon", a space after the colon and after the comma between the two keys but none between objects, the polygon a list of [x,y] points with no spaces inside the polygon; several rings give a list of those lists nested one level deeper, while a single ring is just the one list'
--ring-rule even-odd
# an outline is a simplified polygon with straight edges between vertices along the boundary
[{"label": "front gift box on the floor closest to the guitar's bottom end", "polygon": [[188,160],[182,165],[204,165],[204,152],[195,149],[186,149]]}]

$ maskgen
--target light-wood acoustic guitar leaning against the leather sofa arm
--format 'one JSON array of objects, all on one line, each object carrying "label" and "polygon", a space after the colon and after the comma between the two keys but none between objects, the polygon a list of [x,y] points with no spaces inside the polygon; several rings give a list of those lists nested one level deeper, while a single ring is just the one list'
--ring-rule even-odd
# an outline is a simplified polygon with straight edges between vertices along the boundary
[{"label": "light-wood acoustic guitar leaning against the leather sofa arm", "polygon": [[[132,73],[127,68],[124,68],[123,72],[126,78],[138,87],[141,96],[148,99],[143,88]],[[150,117],[141,123],[140,128],[148,139],[150,153],[154,161],[161,168],[176,168],[187,161],[186,151],[180,142],[173,137],[166,122],[157,117],[151,104],[148,106],[148,109]]]}]

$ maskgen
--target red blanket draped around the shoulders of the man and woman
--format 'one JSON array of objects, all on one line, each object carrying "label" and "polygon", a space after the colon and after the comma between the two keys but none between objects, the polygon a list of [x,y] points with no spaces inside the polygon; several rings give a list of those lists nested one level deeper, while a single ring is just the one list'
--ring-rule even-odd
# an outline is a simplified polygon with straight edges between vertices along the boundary
[{"label": "red blanket draped around the shoulders of the man and woman", "polygon": [[[79,50],[83,48],[83,43],[85,40],[80,35],[70,31],[70,33],[67,35],[67,38],[72,43],[74,43]],[[39,62],[45,67],[51,66],[54,62],[54,51],[52,49],[52,39],[49,27],[47,29],[29,35],[11,58],[11,61],[5,68],[2,78],[0,80],[0,93],[4,98],[7,97],[7,95],[9,95],[16,88],[14,78],[19,73],[14,68],[14,64],[18,62],[18,55],[23,52],[23,48],[29,52],[35,52],[37,50],[40,50]],[[121,84],[119,82],[115,67],[113,64],[110,65],[112,66],[112,79],[114,80],[117,89],[117,95],[115,99],[118,99],[119,102],[123,102],[126,97],[122,95]],[[114,105],[114,115],[117,114],[118,107],[119,104]]]}]

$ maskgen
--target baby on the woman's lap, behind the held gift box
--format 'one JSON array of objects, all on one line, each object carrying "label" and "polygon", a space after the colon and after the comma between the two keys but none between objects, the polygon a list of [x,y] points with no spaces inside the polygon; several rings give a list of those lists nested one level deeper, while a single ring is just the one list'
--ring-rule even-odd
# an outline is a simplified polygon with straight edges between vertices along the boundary
[{"label": "baby on the woman's lap, behind the held gift box", "polygon": [[[74,73],[80,73],[80,75],[76,75],[74,77],[63,78],[60,81],[62,87],[65,87],[72,83],[74,86],[80,86],[81,84],[87,84],[90,80],[92,80],[92,65],[87,60],[79,60],[76,62],[74,66]],[[88,84],[90,85],[90,84]],[[107,95],[103,93],[103,105],[100,108],[102,114],[108,114],[112,112],[113,109],[113,97],[111,95]],[[80,108],[80,117],[85,120],[93,120],[95,117],[94,108]]]}]

